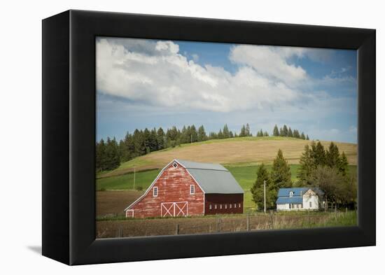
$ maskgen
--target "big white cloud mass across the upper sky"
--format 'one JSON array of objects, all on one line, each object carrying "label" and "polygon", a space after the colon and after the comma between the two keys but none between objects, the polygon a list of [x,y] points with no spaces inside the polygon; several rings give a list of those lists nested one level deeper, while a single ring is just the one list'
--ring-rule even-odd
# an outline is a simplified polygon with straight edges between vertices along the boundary
[{"label": "big white cloud mass across the upper sky", "polygon": [[231,74],[201,66],[196,57],[188,59],[172,41],[99,38],[97,90],[153,106],[221,112],[279,106],[303,97],[295,85],[307,73],[287,62],[303,50],[257,48],[233,47],[230,58],[239,69]]}]

